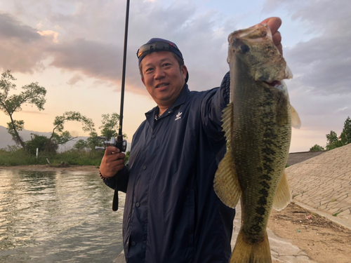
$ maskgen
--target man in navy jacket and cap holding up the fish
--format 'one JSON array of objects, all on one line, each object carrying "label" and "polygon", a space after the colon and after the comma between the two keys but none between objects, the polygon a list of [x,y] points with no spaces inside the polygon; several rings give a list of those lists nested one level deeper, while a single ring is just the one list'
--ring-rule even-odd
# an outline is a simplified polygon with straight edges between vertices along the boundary
[{"label": "man in navy jacket and cap holding up the fish", "polygon": [[[262,23],[282,52],[281,20]],[[175,43],[151,39],[137,55],[157,107],[133,135],[126,167],[115,147],[107,147],[100,165],[104,182],[126,192],[126,262],[228,262],[235,210],[216,196],[213,177],[225,153],[220,120],[229,103],[229,74],[219,88],[194,92]]]}]

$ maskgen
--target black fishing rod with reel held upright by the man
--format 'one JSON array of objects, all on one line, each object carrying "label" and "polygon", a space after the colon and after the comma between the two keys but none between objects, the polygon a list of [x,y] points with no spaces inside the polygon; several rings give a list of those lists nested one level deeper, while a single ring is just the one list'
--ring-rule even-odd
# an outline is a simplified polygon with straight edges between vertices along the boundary
[{"label": "black fishing rod with reel held upright by the man", "polygon": [[[126,27],[124,29],[124,53],[123,53],[123,67],[122,67],[122,83],[121,83],[121,109],[119,111],[119,129],[117,138],[111,137],[111,140],[107,140],[107,137],[99,137],[105,140],[103,144],[105,147],[95,147],[95,149],[103,149],[106,147],[114,146],[119,149],[119,151],[126,151],[127,141],[123,139],[122,125],[123,125],[123,107],[124,107],[124,84],[126,83],[126,60],[127,60],[127,39],[128,39],[128,19],[129,19],[129,0],[126,4]],[[112,210],[118,210],[118,190],[117,182],[114,187],[114,195],[112,201]]]}]

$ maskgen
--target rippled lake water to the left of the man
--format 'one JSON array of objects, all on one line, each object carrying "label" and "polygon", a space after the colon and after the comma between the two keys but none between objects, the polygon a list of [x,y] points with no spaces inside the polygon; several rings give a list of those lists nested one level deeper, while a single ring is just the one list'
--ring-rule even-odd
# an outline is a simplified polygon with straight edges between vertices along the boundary
[{"label": "rippled lake water to the left of the man", "polygon": [[96,174],[0,169],[0,262],[112,262],[122,213]]}]

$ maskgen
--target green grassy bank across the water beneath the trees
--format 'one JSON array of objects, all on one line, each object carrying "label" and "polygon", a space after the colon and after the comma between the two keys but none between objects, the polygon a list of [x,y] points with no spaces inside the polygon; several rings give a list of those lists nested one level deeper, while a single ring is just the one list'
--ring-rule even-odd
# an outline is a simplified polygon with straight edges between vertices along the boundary
[{"label": "green grassy bank across the water beneath the trees", "polygon": [[38,159],[36,156],[26,154],[22,149],[15,151],[6,151],[0,149],[0,166],[30,166],[34,164],[47,164],[48,161],[55,166],[62,162],[69,165],[78,166],[100,166],[100,162],[104,151],[78,151],[69,150],[58,154],[39,153]]}]

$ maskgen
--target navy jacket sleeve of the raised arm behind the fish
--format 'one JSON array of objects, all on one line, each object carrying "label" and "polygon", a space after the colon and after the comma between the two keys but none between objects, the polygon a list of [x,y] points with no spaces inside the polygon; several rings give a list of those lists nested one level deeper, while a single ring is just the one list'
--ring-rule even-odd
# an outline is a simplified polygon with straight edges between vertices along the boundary
[{"label": "navy jacket sleeve of the raised arm behind the fish", "polygon": [[219,88],[206,93],[201,102],[201,120],[208,138],[214,144],[224,142],[222,131],[222,111],[230,100],[230,72],[225,74]]}]

